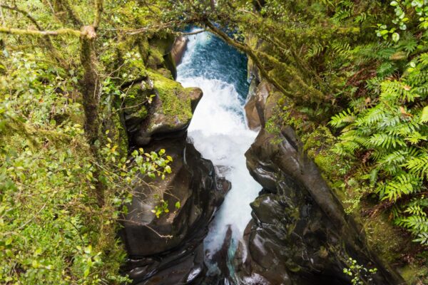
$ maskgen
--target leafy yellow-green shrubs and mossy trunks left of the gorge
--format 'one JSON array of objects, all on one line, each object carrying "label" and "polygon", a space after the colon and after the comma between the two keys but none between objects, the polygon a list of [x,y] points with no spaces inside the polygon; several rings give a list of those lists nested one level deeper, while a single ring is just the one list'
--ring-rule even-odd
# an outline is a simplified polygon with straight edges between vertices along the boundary
[{"label": "leafy yellow-green shrubs and mossy trunks left of the gorge", "polygon": [[[156,22],[149,16],[155,8],[6,2],[0,28],[8,34],[0,38],[0,283],[122,284],[128,280],[118,274],[125,258],[116,237],[122,205],[145,177],[168,175],[172,158],[165,150],[128,150],[122,105],[135,98],[127,88],[153,68],[147,65],[154,32],[123,38],[115,28]],[[139,103],[148,105],[151,97]]]}]

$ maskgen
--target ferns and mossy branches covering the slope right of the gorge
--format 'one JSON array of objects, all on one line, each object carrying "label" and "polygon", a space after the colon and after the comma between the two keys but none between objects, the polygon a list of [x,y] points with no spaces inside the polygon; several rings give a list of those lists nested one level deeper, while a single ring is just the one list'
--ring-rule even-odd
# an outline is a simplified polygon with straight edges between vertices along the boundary
[{"label": "ferns and mossy branches covering the slope right of the gorge", "polygon": [[[348,212],[387,214],[409,232],[393,237],[415,242],[394,262],[426,266],[426,1],[216,2],[175,11],[248,54],[258,80],[284,95],[266,128],[294,126]],[[413,281],[427,281],[419,272]]]}]

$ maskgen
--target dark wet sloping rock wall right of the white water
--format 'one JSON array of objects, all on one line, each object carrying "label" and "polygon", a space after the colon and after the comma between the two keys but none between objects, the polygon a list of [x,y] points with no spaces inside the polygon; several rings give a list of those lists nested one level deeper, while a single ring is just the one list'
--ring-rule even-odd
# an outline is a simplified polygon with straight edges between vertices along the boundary
[{"label": "dark wet sloping rock wall right of the white water", "polygon": [[362,228],[345,214],[290,127],[277,135],[262,129],[245,155],[264,190],[251,204],[253,219],[235,257],[240,279],[350,284],[343,269],[351,257],[379,270],[372,284],[405,284],[367,248]]}]

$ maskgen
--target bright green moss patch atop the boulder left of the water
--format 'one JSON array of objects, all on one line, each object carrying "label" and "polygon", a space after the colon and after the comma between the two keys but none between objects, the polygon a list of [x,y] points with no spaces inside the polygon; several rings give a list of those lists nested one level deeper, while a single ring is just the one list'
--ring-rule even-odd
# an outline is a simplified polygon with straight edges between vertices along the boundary
[{"label": "bright green moss patch atop the boulder left of the water", "polygon": [[180,83],[153,71],[149,73],[149,76],[154,81],[154,86],[162,102],[162,113],[167,120],[188,122],[193,116],[190,102],[190,92],[193,88],[183,88]]}]

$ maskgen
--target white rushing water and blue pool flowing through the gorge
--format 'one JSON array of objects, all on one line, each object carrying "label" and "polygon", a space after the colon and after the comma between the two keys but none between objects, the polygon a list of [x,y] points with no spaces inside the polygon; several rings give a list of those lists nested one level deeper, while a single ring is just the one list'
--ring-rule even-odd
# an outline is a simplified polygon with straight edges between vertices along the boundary
[{"label": "white rushing water and blue pool flowing through the gorge", "polygon": [[220,174],[232,183],[204,241],[208,259],[222,246],[229,225],[234,244],[242,237],[251,219],[250,202],[261,190],[245,164],[244,154],[257,133],[249,130],[245,123],[243,95],[235,87],[238,86],[235,80],[242,78],[234,79],[235,71],[222,64],[223,61],[233,61],[229,53],[237,52],[222,44],[209,33],[190,36],[188,49],[177,68],[177,81],[185,87],[203,90],[188,135],[203,157],[211,160]]}]

